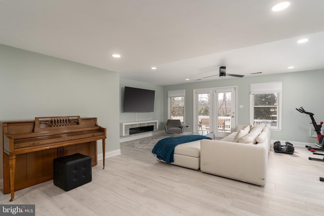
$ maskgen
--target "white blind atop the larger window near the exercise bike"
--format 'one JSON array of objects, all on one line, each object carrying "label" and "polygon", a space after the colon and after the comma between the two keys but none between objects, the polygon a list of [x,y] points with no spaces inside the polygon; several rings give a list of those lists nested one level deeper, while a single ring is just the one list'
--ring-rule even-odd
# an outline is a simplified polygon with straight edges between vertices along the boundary
[{"label": "white blind atop the larger window near the exercise bike", "polygon": [[281,93],[282,82],[263,82],[250,84],[250,94]]}]

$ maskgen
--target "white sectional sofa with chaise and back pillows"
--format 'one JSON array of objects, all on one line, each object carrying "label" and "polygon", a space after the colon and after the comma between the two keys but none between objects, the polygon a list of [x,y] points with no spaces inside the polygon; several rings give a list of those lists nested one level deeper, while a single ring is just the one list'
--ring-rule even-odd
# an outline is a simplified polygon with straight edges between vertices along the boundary
[{"label": "white sectional sofa with chaise and back pillows", "polygon": [[270,125],[238,125],[236,131],[222,140],[200,140],[177,145],[171,164],[200,168],[209,174],[265,185]]}]

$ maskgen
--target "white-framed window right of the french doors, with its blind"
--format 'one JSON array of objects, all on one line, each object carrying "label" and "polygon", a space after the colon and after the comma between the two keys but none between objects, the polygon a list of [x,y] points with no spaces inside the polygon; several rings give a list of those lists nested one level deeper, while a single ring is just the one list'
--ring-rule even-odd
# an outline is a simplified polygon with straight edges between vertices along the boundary
[{"label": "white-framed window right of the french doors, with its blind", "polygon": [[269,123],[281,129],[282,82],[250,84],[250,123]]}]

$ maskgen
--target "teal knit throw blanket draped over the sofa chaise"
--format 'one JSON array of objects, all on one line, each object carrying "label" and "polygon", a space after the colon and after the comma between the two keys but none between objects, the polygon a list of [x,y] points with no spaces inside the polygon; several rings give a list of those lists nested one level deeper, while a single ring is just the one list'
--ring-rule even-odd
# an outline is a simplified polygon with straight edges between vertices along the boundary
[{"label": "teal knit throw blanket draped over the sofa chaise", "polygon": [[167,137],[159,140],[152,149],[152,153],[159,159],[164,160],[167,163],[174,162],[173,154],[174,148],[182,143],[189,143],[197,140],[204,140],[211,138],[201,135],[188,135],[180,137]]}]

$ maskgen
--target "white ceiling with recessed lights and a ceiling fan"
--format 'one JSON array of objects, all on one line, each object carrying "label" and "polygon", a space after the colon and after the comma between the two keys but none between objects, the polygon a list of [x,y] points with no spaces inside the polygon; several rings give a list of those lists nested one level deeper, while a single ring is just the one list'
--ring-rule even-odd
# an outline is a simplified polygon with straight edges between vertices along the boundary
[{"label": "white ceiling with recessed lights and a ceiling fan", "polygon": [[324,68],[324,1],[278,2],[0,0],[0,44],[159,85]]}]

